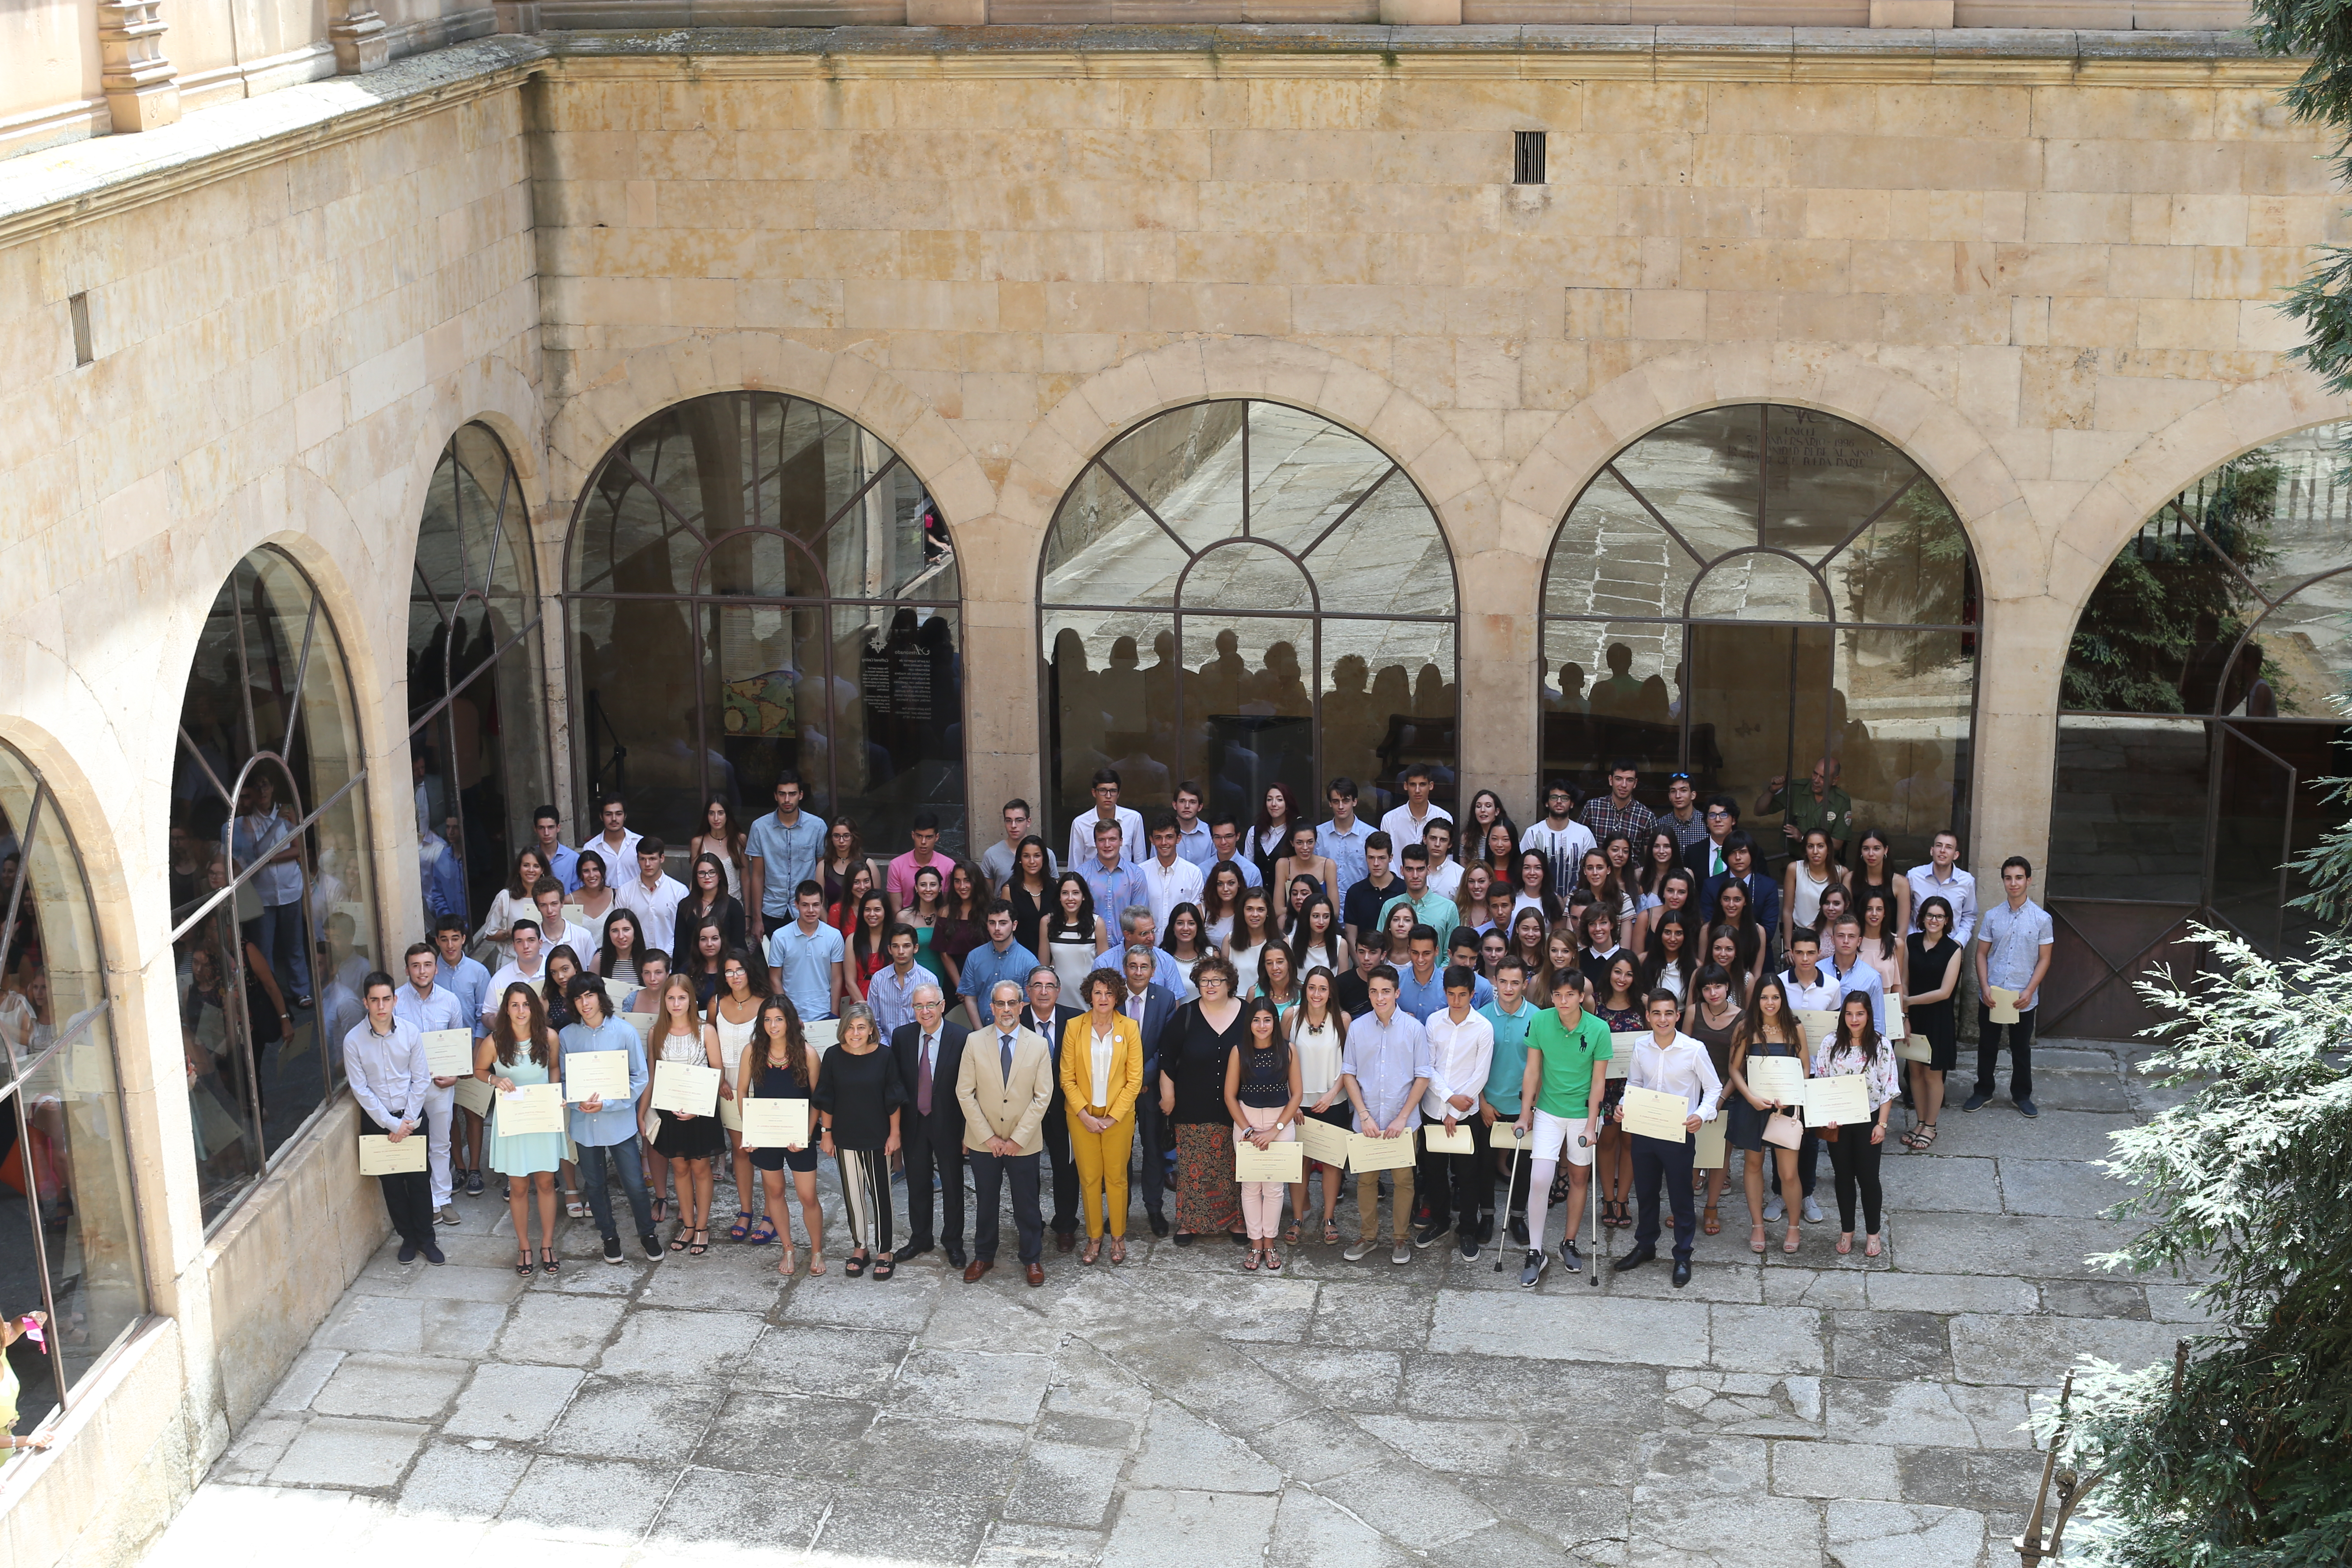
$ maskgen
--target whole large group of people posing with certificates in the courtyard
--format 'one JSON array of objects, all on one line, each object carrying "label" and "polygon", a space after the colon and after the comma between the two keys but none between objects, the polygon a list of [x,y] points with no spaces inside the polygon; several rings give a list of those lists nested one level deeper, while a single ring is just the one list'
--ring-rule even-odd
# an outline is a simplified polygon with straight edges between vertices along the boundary
[{"label": "whole large group of people posing with certificates in the courtyard", "polygon": [[[1007,1187],[1030,1284],[1044,1279],[1047,1229],[1075,1251],[1084,1227],[1080,1262],[1105,1251],[1124,1262],[1136,1190],[1152,1234],[1190,1246],[1225,1232],[1247,1248],[1244,1269],[1279,1269],[1284,1246],[1341,1241],[1352,1168],[1350,1260],[1381,1248],[1385,1175],[1395,1262],[1446,1234],[1477,1258],[1501,1218],[1503,1246],[1524,1248],[1522,1284],[1536,1286],[1550,1204],[1571,1206],[1559,1260],[1583,1267],[1576,1220],[1592,1180],[1599,1222],[1635,1229],[1616,1267],[1656,1253],[1665,1194],[1679,1286],[1696,1232],[1719,1232],[1729,1159],[1693,1171],[1696,1133],[1717,1117],[1743,1152],[1755,1253],[1783,1215],[1785,1251],[1797,1251],[1799,1211],[1823,1218],[1825,1143],[1837,1248],[1851,1248],[1860,1208],[1863,1251],[1877,1255],[1879,1152],[1903,1100],[1905,1147],[1933,1145],[1971,936],[1980,1058],[1966,1107],[1990,1100],[2006,1037],[2011,1098],[2034,1114],[2030,1041],[2051,929],[2020,858],[1987,912],[1950,832],[1926,865],[1896,872],[1889,839],[1865,830],[1849,872],[1816,769],[1811,825],[1795,827],[1804,792],[1785,792],[1792,856],[1773,879],[1733,797],[1698,802],[1675,776],[1668,811],[1653,813],[1632,799],[1630,764],[1611,766],[1592,799],[1550,783],[1526,830],[1479,790],[1458,856],[1435,778],[1406,769],[1399,783],[1406,799],[1378,827],[1355,813],[1348,778],[1331,780],[1322,823],[1282,785],[1247,827],[1202,820],[1192,785],[1145,823],[1105,769],[1061,860],[1030,832],[1028,804],[1007,802],[1004,842],[976,860],[938,849],[936,820],[917,816],[910,846],[882,865],[854,823],[804,813],[786,776],[776,811],[743,832],[724,804],[708,806],[689,844],[691,891],[666,875],[663,844],[628,832],[619,799],[600,804],[604,832],[579,851],[543,809],[506,905],[473,933],[501,969],[468,957],[466,924],[440,917],[433,943],[407,954],[407,985],[367,978],[367,1020],[346,1037],[365,1131],[421,1128],[430,1143],[426,1173],[386,1178],[402,1258],[440,1260],[433,1227],[456,1220],[456,1190],[482,1192],[485,1168],[508,1180],[517,1272],[560,1267],[557,1178],[569,1211],[595,1218],[607,1262],[621,1262],[612,1175],[649,1258],[703,1255],[715,1161],[731,1159],[727,1237],[781,1241],[779,1269],[795,1272],[790,1171],[821,1274],[823,1152],[837,1161],[851,1276],[889,1279],[941,1246],[981,1279]],[[1851,809],[1844,818],[1851,832]],[[612,889],[607,863],[635,863],[633,882]],[[1997,1023],[2011,1004],[2016,1023]],[[1813,1039],[1802,1013],[1835,1013],[1835,1027]],[[426,1032],[466,1023],[473,1077],[494,1095],[487,1117],[454,1107],[456,1079],[423,1060]],[[1907,1077],[1900,1037],[1924,1044],[1907,1051]],[[501,1095],[560,1081],[583,1051],[628,1053],[628,1103],[581,1100],[562,1133],[499,1128]],[[1804,1077],[1858,1077],[1867,1124],[1804,1126],[1799,1105],[1750,1086],[1750,1060],[1766,1056]],[[670,1063],[717,1070],[720,1114],[652,1107]],[[1689,1135],[1628,1131],[1628,1088],[1679,1093]],[[753,1098],[804,1103],[804,1140],[746,1143],[739,1107]],[[1341,1147],[1334,1133],[1357,1140],[1345,1166],[1303,1159],[1296,1182],[1237,1178],[1240,1145],[1291,1143],[1310,1121],[1329,1128],[1308,1133],[1322,1154]],[[1367,1143],[1421,1126],[1444,1138],[1399,1152]],[[967,1171],[978,1199],[969,1258]]]}]

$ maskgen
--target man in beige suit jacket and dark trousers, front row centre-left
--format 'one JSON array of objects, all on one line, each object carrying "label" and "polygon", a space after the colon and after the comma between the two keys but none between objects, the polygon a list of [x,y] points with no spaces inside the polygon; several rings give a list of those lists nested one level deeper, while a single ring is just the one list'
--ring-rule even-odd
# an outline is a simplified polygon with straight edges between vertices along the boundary
[{"label": "man in beige suit jacket and dark trousers, front row centre-left", "polygon": [[1021,985],[997,980],[988,990],[990,1025],[964,1037],[964,1060],[955,1070],[955,1103],[964,1107],[964,1157],[978,1199],[971,1229],[969,1286],[997,1267],[997,1199],[1014,1185],[1014,1227],[1021,1232],[1021,1265],[1033,1286],[1044,1284],[1044,1215],[1037,1208],[1037,1152],[1044,1147],[1044,1112],[1054,1103],[1054,1053],[1035,1030],[1021,1025]]}]

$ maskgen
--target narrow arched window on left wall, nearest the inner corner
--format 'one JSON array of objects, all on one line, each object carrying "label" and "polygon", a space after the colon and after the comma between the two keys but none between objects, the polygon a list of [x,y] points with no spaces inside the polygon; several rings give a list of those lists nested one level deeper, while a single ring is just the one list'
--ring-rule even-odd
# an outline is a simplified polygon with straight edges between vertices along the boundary
[{"label": "narrow arched window on left wall, nearest the inner corner", "polygon": [[[409,588],[409,748],[426,914],[480,919],[548,804],[539,571],[515,463],[489,425],[442,449]],[[442,856],[461,865],[440,867]]]}]

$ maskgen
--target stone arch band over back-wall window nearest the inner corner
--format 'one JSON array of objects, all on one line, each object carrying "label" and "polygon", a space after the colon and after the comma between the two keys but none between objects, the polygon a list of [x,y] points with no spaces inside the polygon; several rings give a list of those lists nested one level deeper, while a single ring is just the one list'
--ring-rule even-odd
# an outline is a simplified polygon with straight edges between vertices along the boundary
[{"label": "stone arch band over back-wall window nearest the inner corner", "polygon": [[[969,529],[997,508],[995,484],[955,428],[903,381],[849,353],[811,348],[774,331],[699,331],[619,360],[564,400],[548,421],[546,498],[569,510],[614,442],[654,414],[706,393],[786,393],[873,430],[938,501],[948,529]],[[548,578],[548,581],[560,581]]]}]

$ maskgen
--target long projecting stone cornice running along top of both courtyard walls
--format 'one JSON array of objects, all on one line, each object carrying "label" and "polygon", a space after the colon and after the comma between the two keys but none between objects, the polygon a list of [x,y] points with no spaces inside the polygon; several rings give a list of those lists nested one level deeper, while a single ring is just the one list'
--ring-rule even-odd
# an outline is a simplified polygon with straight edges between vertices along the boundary
[{"label": "long projecting stone cornice running along top of both courtyard walls", "polygon": [[301,150],[553,80],[1468,78],[2284,87],[2300,61],[2230,33],[1656,26],[696,28],[482,38],[285,87],[141,136],[0,162],[0,247]]}]

